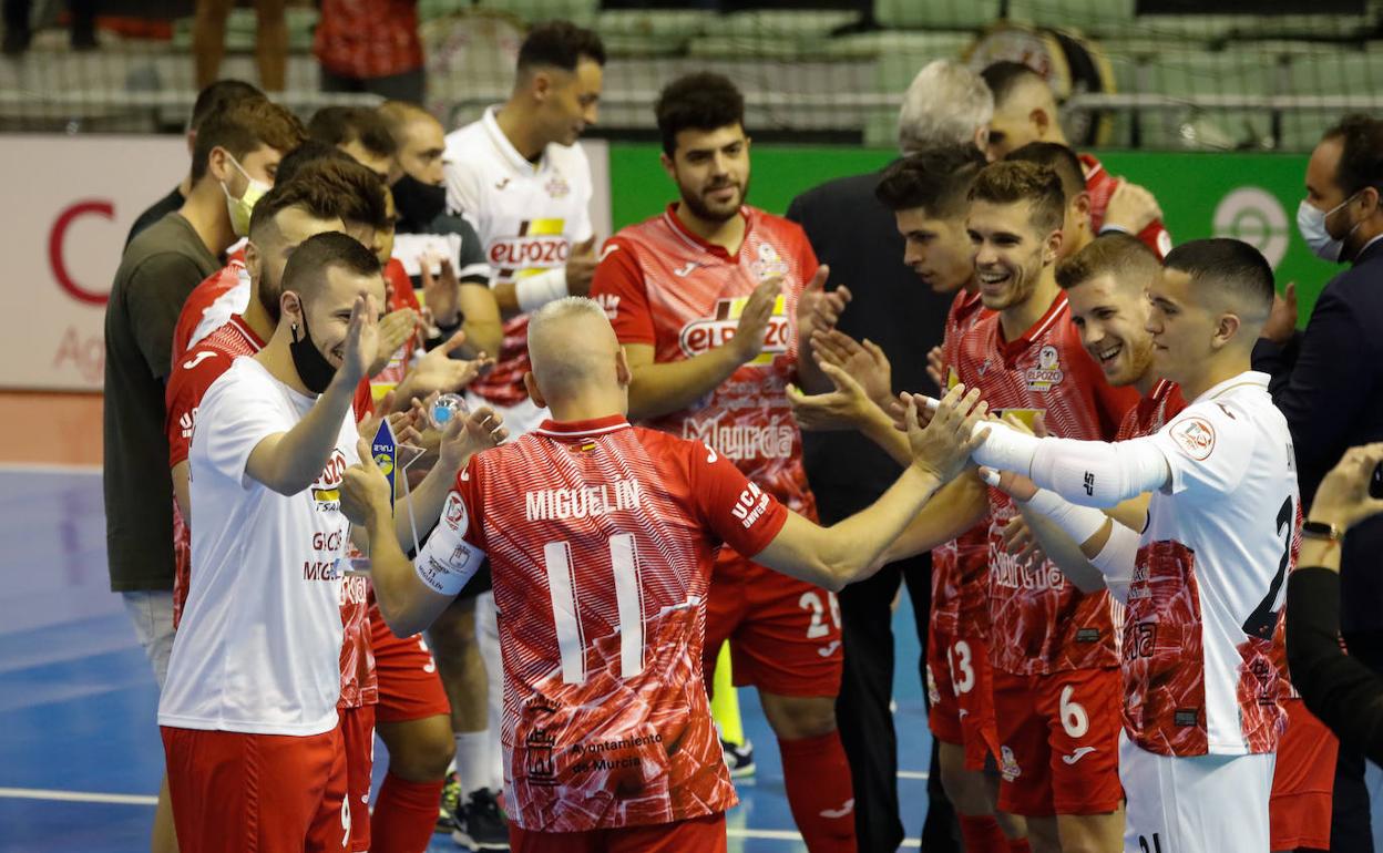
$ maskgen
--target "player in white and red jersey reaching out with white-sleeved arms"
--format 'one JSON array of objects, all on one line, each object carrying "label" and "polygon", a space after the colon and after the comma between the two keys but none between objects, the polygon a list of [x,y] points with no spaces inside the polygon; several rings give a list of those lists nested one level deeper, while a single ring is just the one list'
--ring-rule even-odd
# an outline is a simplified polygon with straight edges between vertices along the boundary
[{"label": "player in white and red jersey reaching out with white-sleeved arms", "polygon": [[[1285,723],[1274,635],[1301,517],[1292,435],[1250,371],[1272,270],[1247,243],[1192,241],[1148,294],[1152,369],[1191,401],[1180,415],[1117,447],[994,429],[974,459],[1029,477],[1005,485],[1127,606],[1124,850],[1261,853]],[[1144,492],[1133,528],[1094,509]]]}]

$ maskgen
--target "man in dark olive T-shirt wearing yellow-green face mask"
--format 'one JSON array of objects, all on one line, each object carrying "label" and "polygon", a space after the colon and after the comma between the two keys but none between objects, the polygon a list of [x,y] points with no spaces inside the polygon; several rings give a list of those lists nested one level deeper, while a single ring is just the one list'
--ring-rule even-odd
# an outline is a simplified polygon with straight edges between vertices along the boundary
[{"label": "man in dark olive T-shirt wearing yellow-green face mask", "polygon": [[[167,477],[163,388],[174,324],[188,293],[245,234],[254,200],[274,181],[303,126],[264,98],[232,101],[202,123],[192,188],[183,206],[124,249],[105,312],[105,520],[111,590],[122,593],[155,679],[173,643],[173,487]],[[155,843],[171,823],[160,796]],[[162,841],[160,841],[162,839]]]}]

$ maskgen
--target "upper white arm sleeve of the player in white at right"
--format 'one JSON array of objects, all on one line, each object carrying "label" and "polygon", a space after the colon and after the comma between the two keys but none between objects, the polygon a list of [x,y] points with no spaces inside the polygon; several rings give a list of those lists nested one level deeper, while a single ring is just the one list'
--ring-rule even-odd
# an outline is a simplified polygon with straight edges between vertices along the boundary
[{"label": "upper white arm sleeve of the player in white at right", "polygon": [[989,438],[972,453],[976,463],[1026,474],[1039,487],[1080,506],[1115,506],[1160,489],[1171,477],[1162,445],[1151,437],[1112,444],[1036,438],[996,422],[975,429],[983,427]]}]

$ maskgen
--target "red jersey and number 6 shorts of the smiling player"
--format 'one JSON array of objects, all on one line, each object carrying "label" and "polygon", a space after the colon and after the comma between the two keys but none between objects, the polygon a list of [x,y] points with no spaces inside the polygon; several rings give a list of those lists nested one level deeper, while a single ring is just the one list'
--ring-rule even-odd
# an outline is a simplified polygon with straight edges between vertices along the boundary
[{"label": "red jersey and number 6 shorts of the smiling player", "polygon": [[[1000,315],[963,337],[956,372],[993,411],[1041,415],[1064,438],[1112,438],[1137,402],[1112,388],[1080,344],[1066,294],[1014,340]],[[1001,784],[999,807],[1026,816],[1097,814],[1117,809],[1119,683],[1112,603],[1084,594],[1051,563],[1019,565],[1001,534],[1018,516],[989,489],[990,662]]]}]

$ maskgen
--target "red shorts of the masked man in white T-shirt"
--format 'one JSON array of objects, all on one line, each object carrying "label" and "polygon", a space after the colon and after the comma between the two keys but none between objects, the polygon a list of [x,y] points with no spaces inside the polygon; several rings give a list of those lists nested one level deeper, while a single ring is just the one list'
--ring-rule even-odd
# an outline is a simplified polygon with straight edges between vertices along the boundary
[{"label": "red shorts of the masked man in white T-shirt", "polygon": [[[242,734],[160,727],[178,847],[196,853],[343,850],[340,729]],[[335,802],[335,806],[328,803]],[[369,823],[369,814],[362,816]]]}]

